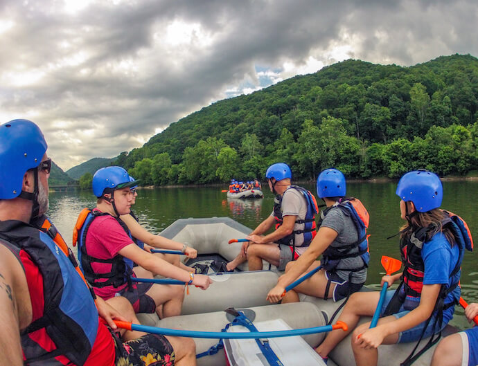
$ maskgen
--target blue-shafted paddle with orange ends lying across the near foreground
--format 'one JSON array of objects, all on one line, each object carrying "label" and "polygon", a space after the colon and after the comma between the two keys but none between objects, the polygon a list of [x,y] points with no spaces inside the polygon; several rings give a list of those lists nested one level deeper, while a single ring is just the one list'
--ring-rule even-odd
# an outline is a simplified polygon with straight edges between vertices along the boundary
[{"label": "blue-shafted paddle with orange ends lying across the near foreground", "polygon": [[335,329],[343,329],[347,331],[347,324],[338,321],[334,325],[324,325],[322,327],[290,329],[288,331],[247,331],[233,332],[226,331],[186,331],[181,329],[168,329],[159,327],[150,327],[148,325],[134,324],[131,322],[123,322],[121,320],[113,320],[118,328],[130,331],[145,331],[146,333],[161,334],[163,336],[178,336],[191,338],[217,338],[217,339],[258,339],[258,338],[277,338],[300,336],[302,334],[324,333]]}]

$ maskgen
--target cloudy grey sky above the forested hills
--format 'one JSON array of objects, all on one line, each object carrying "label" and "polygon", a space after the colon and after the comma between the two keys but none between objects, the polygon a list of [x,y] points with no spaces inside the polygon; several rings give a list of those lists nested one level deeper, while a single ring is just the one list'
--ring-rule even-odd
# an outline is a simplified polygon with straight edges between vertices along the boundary
[{"label": "cloudy grey sky above the forested hills", "polygon": [[478,56],[476,0],[0,0],[0,122],[67,170],[216,100],[348,58]]}]

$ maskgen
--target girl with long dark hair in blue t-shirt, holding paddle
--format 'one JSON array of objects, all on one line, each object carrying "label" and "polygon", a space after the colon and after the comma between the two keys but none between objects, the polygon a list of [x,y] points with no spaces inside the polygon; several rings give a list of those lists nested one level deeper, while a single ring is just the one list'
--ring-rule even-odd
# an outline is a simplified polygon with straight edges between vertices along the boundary
[{"label": "girl with long dark hair in blue t-shirt, holding paddle", "polygon": [[355,362],[368,366],[377,365],[378,347],[382,344],[419,344],[422,338],[430,337],[423,349],[416,354],[414,349],[400,363],[411,365],[439,339],[441,330],[453,318],[454,305],[460,298],[461,260],[465,248],[472,246],[468,226],[457,215],[440,209],[443,187],[432,172],[418,170],[403,175],[396,194],[401,200],[400,217],[406,220],[399,232],[405,269],[384,275],[382,285],[387,282],[391,286],[397,280],[400,285],[387,291],[379,309],[381,318],[372,329],[371,322],[357,324],[361,316],[375,313],[380,292],[353,293],[339,317],[348,324],[348,331],[328,333],[316,349],[322,358],[351,331]]}]

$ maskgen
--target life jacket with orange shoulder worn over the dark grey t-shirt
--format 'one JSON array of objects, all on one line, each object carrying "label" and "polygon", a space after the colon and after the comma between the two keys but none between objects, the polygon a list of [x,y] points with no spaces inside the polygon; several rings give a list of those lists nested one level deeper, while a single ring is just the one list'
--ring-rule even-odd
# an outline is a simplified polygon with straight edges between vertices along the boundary
[{"label": "life jacket with orange shoulder worn over the dark grey t-shirt", "polygon": [[[347,217],[350,217],[357,230],[357,241],[353,243],[343,244],[342,246],[328,246],[322,253],[321,264],[326,271],[334,271],[335,268],[341,271],[357,272],[367,268],[370,262],[369,253],[369,235],[366,234],[366,229],[369,227],[369,212],[366,211],[362,202],[359,199],[348,199],[346,201],[338,202],[337,204],[326,208],[321,212],[321,219],[319,227],[330,210],[342,210]],[[355,248],[358,248],[355,250]],[[342,259],[361,257],[363,261],[362,266],[355,268],[345,268],[339,266]]]}]

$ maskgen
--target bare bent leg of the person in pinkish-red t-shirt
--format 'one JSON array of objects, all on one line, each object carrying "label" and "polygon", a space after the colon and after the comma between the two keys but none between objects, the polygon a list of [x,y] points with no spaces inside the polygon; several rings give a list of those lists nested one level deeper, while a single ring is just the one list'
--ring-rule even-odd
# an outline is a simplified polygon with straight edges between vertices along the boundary
[{"label": "bare bent leg of the person in pinkish-red t-shirt", "polygon": [[163,305],[163,317],[181,315],[184,300],[184,287],[178,285],[153,284],[146,293],[157,305],[156,312],[161,315],[159,305]]}]

